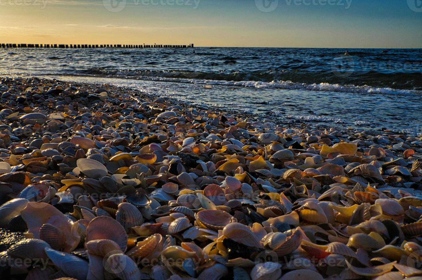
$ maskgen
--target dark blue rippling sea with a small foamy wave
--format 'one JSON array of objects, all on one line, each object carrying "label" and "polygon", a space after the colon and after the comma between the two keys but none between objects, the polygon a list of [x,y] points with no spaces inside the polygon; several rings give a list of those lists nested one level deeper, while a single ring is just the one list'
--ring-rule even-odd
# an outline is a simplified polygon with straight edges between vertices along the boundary
[{"label": "dark blue rippling sea with a small foamy wave", "polygon": [[0,48],[0,76],[109,83],[286,124],[422,128],[422,49]]}]

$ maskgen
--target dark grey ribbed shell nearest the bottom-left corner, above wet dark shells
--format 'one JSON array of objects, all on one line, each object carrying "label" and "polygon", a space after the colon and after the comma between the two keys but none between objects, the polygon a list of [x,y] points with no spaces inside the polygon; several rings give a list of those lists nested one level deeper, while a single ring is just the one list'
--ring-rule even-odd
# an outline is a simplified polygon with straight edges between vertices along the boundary
[{"label": "dark grey ribbed shell nearest the bottom-left corner, above wet dark shells", "polygon": [[31,259],[32,261],[39,261],[47,259],[44,251],[45,248],[50,248],[50,245],[39,239],[24,239],[11,245],[7,250],[8,256],[11,258]]}]

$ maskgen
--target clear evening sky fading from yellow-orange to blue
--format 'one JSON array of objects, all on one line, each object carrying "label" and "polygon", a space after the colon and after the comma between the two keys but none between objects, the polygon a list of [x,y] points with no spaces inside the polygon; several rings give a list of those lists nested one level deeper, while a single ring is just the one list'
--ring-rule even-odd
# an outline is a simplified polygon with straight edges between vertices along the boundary
[{"label": "clear evening sky fading from yellow-orange to blue", "polygon": [[0,43],[422,48],[422,0],[0,0]]}]

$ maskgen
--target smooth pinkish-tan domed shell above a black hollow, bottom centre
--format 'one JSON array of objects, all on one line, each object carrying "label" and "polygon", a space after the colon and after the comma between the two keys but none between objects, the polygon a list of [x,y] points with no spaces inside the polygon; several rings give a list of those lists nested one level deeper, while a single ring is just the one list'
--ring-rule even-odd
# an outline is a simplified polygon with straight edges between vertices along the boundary
[{"label": "smooth pinkish-tan domed shell above a black hollow, bottom centre", "polygon": [[262,247],[260,241],[251,229],[241,223],[229,223],[223,228],[222,234],[225,237],[246,246],[256,248]]}]

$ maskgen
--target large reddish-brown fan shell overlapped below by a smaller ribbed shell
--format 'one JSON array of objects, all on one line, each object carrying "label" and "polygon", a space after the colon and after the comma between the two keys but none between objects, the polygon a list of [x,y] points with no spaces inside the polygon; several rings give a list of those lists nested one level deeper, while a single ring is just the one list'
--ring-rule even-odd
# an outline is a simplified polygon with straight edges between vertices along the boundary
[{"label": "large reddish-brown fan shell overlapped below by a smaller ribbed shell", "polygon": [[92,219],[87,226],[85,242],[97,239],[108,239],[116,242],[123,252],[127,248],[127,234],[123,226],[107,216]]}]

